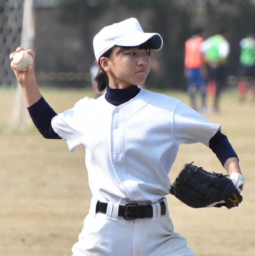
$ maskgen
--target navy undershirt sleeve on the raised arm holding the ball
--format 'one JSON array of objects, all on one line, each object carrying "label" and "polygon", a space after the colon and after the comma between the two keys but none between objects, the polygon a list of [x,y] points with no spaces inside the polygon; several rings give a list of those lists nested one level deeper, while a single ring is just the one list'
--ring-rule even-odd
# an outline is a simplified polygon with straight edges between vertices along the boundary
[{"label": "navy undershirt sleeve on the raised arm holding the ball", "polygon": [[57,113],[41,97],[35,104],[28,107],[28,113],[38,129],[46,139],[62,139],[52,128],[51,120]]}]

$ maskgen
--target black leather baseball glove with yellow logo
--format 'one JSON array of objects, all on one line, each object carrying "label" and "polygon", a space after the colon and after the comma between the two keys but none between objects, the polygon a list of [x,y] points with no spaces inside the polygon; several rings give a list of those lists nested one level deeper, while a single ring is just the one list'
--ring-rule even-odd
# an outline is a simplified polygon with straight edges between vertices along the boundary
[{"label": "black leather baseball glove with yellow logo", "polygon": [[202,167],[185,164],[171,184],[170,193],[193,208],[238,206],[243,197],[228,175],[211,173]]}]

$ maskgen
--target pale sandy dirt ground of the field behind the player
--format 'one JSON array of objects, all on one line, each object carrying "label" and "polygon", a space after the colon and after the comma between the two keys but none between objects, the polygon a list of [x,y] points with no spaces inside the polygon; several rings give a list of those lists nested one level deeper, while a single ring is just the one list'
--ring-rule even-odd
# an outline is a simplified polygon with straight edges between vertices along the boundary
[{"label": "pale sandy dirt ground of the field behind the player", "polygon": [[[56,112],[64,111],[90,90],[42,89]],[[166,92],[188,103],[185,94]],[[25,114],[23,132],[9,129],[14,90],[0,89],[0,255],[68,256],[83,227],[91,192],[84,165],[84,150],[68,151],[62,140],[44,139]],[[209,98],[209,105],[210,103]],[[224,93],[220,114],[205,115],[220,123],[240,158],[246,178],[239,207],[192,209],[167,196],[175,231],[187,238],[197,256],[255,255],[255,105],[241,104],[235,90]],[[182,165],[224,172],[216,156],[203,145],[181,145],[170,172],[173,179]]]}]

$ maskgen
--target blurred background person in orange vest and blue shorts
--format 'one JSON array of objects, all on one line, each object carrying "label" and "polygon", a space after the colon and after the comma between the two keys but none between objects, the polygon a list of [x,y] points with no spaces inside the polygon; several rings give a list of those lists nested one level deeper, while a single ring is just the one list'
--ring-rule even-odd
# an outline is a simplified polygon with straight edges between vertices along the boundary
[{"label": "blurred background person in orange vest and blue shorts", "polygon": [[[191,107],[203,113],[207,113],[207,71],[201,57],[200,46],[204,41],[203,29],[195,29],[193,36],[185,42],[184,76],[187,79],[187,93],[190,96]],[[201,109],[197,108],[196,94],[201,94]]]}]

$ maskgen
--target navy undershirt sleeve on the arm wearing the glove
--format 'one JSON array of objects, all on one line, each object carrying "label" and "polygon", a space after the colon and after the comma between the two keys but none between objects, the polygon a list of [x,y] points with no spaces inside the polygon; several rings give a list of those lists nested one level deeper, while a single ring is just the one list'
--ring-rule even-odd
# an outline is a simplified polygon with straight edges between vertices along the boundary
[{"label": "navy undershirt sleeve on the arm wearing the glove", "polygon": [[227,136],[218,131],[209,141],[209,148],[216,154],[222,166],[230,157],[237,157],[235,150],[227,139]]}]

